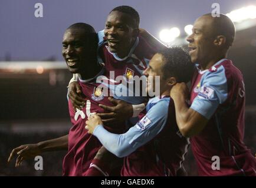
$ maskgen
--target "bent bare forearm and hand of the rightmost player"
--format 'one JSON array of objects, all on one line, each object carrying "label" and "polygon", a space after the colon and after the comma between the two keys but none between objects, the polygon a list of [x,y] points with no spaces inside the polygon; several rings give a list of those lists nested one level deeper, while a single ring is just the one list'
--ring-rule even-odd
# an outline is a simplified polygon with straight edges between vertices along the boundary
[{"label": "bent bare forearm and hand of the rightmost player", "polygon": [[208,123],[208,119],[188,108],[186,104],[188,94],[188,87],[185,83],[176,83],[170,90],[170,97],[175,103],[176,122],[180,132],[185,137],[198,135]]}]

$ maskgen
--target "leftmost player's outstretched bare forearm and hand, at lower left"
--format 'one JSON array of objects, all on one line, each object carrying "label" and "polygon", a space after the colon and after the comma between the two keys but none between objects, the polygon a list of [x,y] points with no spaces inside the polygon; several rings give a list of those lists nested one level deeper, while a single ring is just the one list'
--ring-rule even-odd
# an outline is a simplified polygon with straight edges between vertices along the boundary
[{"label": "leftmost player's outstretched bare forearm and hand, at lower left", "polygon": [[31,159],[35,156],[41,155],[41,153],[67,149],[68,135],[35,144],[21,145],[12,150],[8,158],[8,163],[17,156],[15,167],[18,167],[21,165],[23,160]]}]

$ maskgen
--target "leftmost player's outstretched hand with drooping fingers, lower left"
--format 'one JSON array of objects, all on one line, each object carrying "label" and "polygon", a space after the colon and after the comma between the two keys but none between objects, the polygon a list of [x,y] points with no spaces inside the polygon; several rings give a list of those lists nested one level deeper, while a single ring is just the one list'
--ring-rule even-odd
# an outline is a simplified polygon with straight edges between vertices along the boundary
[{"label": "leftmost player's outstretched hand with drooping fingers, lower left", "polygon": [[15,163],[15,167],[18,167],[21,166],[24,160],[34,158],[41,153],[40,147],[37,144],[21,145],[12,150],[7,162],[9,163],[14,156],[18,156]]}]

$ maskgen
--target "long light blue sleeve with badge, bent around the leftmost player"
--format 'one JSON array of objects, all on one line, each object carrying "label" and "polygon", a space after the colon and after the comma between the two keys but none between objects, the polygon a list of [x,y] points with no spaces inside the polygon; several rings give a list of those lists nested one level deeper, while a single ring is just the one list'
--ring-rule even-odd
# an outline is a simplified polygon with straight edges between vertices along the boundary
[{"label": "long light blue sleeve with badge, bent around the leftmost player", "polygon": [[168,119],[168,106],[169,100],[160,100],[136,125],[122,135],[110,133],[102,125],[94,129],[93,135],[117,157],[128,156],[152,140],[165,127]]}]

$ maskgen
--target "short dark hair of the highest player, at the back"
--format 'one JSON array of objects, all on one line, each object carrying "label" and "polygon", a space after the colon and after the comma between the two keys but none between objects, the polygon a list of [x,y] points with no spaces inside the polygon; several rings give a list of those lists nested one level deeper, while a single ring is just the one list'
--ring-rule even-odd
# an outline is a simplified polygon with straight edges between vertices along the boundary
[{"label": "short dark hair of the highest player, at the back", "polygon": [[134,21],[134,25],[133,25],[134,28],[139,29],[140,16],[139,16],[139,13],[134,8],[132,8],[131,6],[122,5],[122,6],[117,6],[112,11],[110,11],[110,13],[113,11],[119,11],[119,12],[122,12],[124,14],[128,14],[129,16],[131,16]]}]

